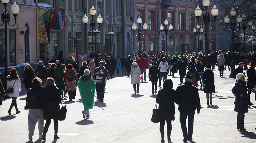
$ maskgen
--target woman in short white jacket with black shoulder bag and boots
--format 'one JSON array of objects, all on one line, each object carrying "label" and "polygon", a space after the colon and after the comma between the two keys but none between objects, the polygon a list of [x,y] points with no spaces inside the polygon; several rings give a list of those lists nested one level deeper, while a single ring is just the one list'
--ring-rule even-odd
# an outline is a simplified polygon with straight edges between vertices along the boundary
[{"label": "woman in short white jacket with black shoulder bag and boots", "polygon": [[9,115],[11,115],[11,109],[14,106],[16,113],[20,113],[17,107],[17,97],[19,97],[19,92],[21,92],[20,77],[17,74],[17,71],[12,67],[11,73],[7,76],[7,89],[13,87],[13,93],[9,93],[9,97],[12,98],[10,109],[8,110]]}]

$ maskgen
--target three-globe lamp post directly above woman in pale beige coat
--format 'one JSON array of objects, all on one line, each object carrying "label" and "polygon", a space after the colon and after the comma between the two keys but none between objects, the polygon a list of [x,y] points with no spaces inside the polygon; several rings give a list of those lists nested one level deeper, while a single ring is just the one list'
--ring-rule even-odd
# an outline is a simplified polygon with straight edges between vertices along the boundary
[{"label": "three-globe lamp post directly above woman in pale beige coat", "polygon": [[135,25],[135,23],[133,23],[133,25],[132,25],[132,30],[133,30],[134,36],[139,36],[139,52],[138,52],[138,54],[140,54],[140,52],[141,52],[141,36],[145,36],[146,30],[148,29],[148,26],[147,26],[146,23],[144,23],[143,30],[145,31],[145,34],[143,35],[142,34],[142,28],[141,28],[141,23],[142,23],[141,17],[139,17],[137,19],[137,23],[139,24],[138,33],[135,34],[135,30],[137,29],[137,26]]}]

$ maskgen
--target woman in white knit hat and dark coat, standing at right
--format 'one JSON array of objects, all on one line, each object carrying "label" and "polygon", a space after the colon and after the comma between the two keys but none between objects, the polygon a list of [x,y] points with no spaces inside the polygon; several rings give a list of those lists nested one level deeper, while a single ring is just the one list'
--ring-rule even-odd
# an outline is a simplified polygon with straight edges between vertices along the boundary
[{"label": "woman in white knit hat and dark coat, standing at right", "polygon": [[236,97],[234,111],[237,112],[237,129],[245,130],[244,121],[245,113],[248,113],[248,97],[244,74],[238,73],[236,75],[236,80],[232,93]]}]

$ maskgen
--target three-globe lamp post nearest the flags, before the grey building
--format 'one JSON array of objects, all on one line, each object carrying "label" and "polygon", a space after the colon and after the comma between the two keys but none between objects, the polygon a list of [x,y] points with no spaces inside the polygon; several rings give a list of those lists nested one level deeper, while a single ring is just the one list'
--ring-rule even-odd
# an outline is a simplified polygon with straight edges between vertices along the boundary
[{"label": "three-globe lamp post nearest the flags, before the grey building", "polygon": [[93,53],[93,44],[94,44],[94,38],[93,38],[93,36],[94,36],[94,31],[99,31],[100,30],[100,25],[101,25],[101,23],[102,23],[102,21],[103,21],[103,18],[101,17],[101,15],[99,14],[99,16],[98,16],[98,18],[97,18],[97,23],[99,24],[99,29],[98,30],[95,30],[95,20],[93,20],[93,17],[95,16],[95,14],[96,14],[96,10],[95,10],[95,8],[94,8],[94,6],[90,9],[90,14],[91,14],[91,16],[92,16],[92,20],[90,20],[90,30],[88,30],[87,29],[87,23],[88,23],[88,21],[89,21],[89,18],[86,16],[86,14],[85,14],[85,16],[83,17],[83,23],[85,24],[85,30],[86,31],[91,31],[92,30],[92,53]]}]

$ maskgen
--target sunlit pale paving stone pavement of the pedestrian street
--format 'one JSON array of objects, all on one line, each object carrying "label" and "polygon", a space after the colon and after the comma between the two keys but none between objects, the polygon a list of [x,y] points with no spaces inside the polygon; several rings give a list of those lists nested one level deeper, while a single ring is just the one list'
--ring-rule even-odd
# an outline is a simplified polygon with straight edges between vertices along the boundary
[{"label": "sunlit pale paving stone pavement of the pedestrian street", "polygon": [[[218,67],[216,67],[217,70]],[[148,70],[146,70],[148,73]],[[253,106],[249,107],[249,113],[245,113],[246,131],[239,132],[236,129],[236,112],[234,112],[234,95],[231,92],[235,79],[228,78],[229,71],[224,71],[224,77],[219,77],[219,71],[215,74],[215,93],[213,93],[213,105],[206,105],[206,93],[198,86],[201,112],[194,117],[194,130],[192,143],[228,143],[228,142],[256,142],[256,106],[254,93],[251,94]],[[174,89],[179,86],[179,73],[176,77],[168,76],[174,83]],[[163,84],[163,83],[162,83]],[[198,84],[200,84],[198,82]],[[8,116],[11,99],[7,99],[0,106],[0,140],[1,143],[32,143],[39,140],[36,127],[33,141],[28,140],[28,110],[24,110],[26,91],[24,84],[20,97],[17,99],[21,113]],[[158,90],[161,89],[158,87]],[[108,80],[102,110],[94,99],[94,107],[90,109],[90,119],[85,120],[81,111],[83,105],[79,90],[76,92],[75,101],[62,100],[67,105],[67,117],[59,121],[59,137],[54,140],[53,121],[46,134],[46,143],[160,143],[161,135],[159,123],[150,121],[152,109],[155,106],[156,95],[151,93],[151,83],[146,81],[140,84],[139,94],[134,95],[131,78],[124,75],[115,76]],[[172,121],[171,141],[183,142],[182,131],[179,122],[178,105],[175,104],[175,120]],[[46,121],[45,121],[46,122]],[[165,125],[166,126],[166,125]],[[167,127],[165,127],[167,135]],[[167,137],[165,136],[167,142]]]}]

